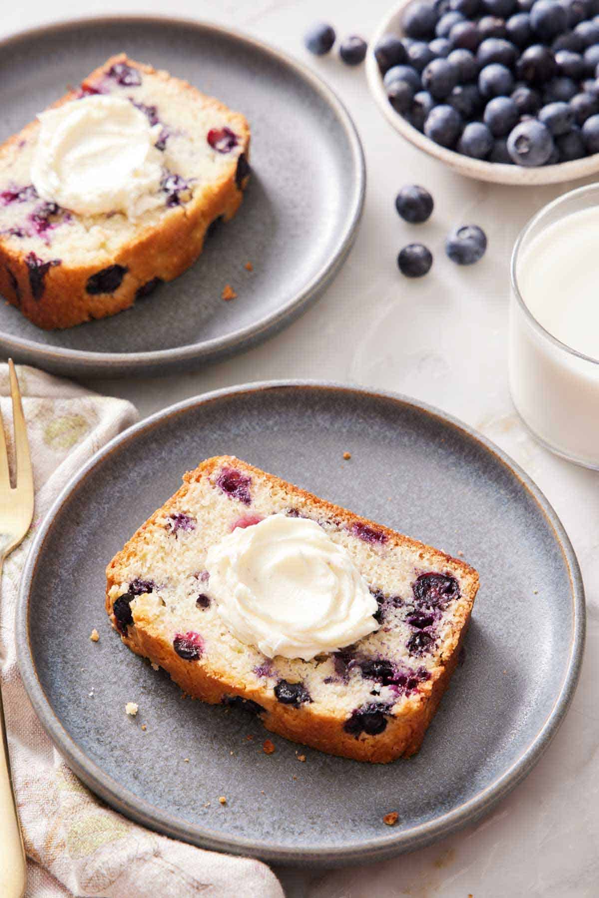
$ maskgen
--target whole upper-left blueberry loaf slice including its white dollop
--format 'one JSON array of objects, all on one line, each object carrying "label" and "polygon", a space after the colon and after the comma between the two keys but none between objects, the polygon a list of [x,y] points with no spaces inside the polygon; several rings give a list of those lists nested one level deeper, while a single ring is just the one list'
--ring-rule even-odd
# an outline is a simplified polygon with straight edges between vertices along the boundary
[{"label": "whole upper-left blueberry loaf slice including its white dollop", "polygon": [[249,145],[240,113],[110,58],[0,146],[0,292],[47,330],[127,309],[234,216]]}]

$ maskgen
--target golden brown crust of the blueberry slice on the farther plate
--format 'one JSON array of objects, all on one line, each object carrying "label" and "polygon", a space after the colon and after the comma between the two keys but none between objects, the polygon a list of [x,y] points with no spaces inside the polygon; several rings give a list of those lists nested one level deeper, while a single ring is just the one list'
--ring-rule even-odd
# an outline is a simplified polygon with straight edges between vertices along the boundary
[{"label": "golden brown crust of the blueberry slice on the farther plate", "polygon": [[[154,69],[129,59],[121,53],[110,57],[103,66],[95,69],[83,82],[92,84],[104,75],[115,63],[126,63],[146,74],[163,80],[172,80],[182,90],[190,92],[194,101],[200,101],[204,108],[213,107],[225,112],[234,122],[236,133],[242,138],[242,154],[249,158],[250,128],[246,119],[233,113],[214,98],[207,97],[186,81],[173,78],[168,72]],[[50,108],[54,109],[74,100],[75,91],[66,93]],[[0,146],[0,156],[11,150],[14,144],[29,136],[38,128],[31,122],[19,134],[9,137]],[[237,157],[230,170],[220,180],[216,180],[209,194],[192,199],[184,207],[173,207],[160,225],[145,226],[136,239],[123,245],[118,253],[110,255],[93,265],[69,266],[65,263],[48,269],[44,277],[44,293],[36,300],[31,292],[30,270],[25,261],[27,253],[14,251],[0,236],[0,293],[22,314],[44,330],[72,327],[84,321],[105,318],[128,309],[135,303],[137,290],[154,278],[163,281],[179,277],[198,259],[204,245],[209,225],[222,216],[225,221],[233,218],[242,202],[242,191],[247,186],[249,176],[240,184],[236,183]],[[117,290],[112,294],[90,295],[86,285],[92,275],[110,265],[122,265],[128,269]]]}]

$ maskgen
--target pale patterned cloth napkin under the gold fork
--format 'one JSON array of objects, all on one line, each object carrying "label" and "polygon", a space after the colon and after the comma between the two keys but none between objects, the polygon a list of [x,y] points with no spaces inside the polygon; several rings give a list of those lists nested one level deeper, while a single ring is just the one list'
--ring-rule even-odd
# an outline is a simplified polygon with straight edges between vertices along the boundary
[{"label": "pale patterned cloth napkin under the gold fork", "polygon": [[[31,540],[66,481],[137,418],[126,401],[87,392],[34,368],[17,368],[31,446],[36,502],[31,531],[4,564],[0,601],[2,691],[31,898],[283,898],[269,867],[204,851],[145,830],[111,811],[66,767],[42,729],[16,664],[14,614]],[[12,453],[8,366],[0,408]]]}]

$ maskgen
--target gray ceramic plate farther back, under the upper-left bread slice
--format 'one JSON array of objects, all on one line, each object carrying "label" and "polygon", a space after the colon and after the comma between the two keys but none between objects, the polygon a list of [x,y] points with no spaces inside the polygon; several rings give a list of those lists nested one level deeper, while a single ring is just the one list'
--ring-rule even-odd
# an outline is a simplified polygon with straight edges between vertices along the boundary
[{"label": "gray ceramic plate farther back, under the upper-left bread slice", "polygon": [[[121,50],[241,110],[253,177],[238,215],[198,262],[127,312],[48,332],[0,303],[0,352],[62,374],[161,374],[248,348],[322,293],[362,212],[362,149],[335,95],[277,50],[214,25],[112,17],[4,40],[0,140]],[[238,294],[230,303],[220,298],[226,283]]]}]

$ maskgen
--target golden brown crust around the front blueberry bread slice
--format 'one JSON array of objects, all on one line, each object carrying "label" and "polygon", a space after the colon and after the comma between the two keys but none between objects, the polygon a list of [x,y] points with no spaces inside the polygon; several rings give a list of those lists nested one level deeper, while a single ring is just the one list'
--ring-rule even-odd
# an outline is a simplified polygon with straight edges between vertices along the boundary
[{"label": "golden brown crust around the front blueberry bread slice", "polygon": [[439,665],[432,670],[430,680],[420,683],[418,693],[413,693],[404,701],[400,713],[388,719],[382,734],[366,735],[366,733],[362,733],[356,737],[344,731],[342,724],[345,718],[343,717],[322,711],[315,712],[310,705],[295,708],[281,704],[277,701],[272,689],[265,689],[260,685],[249,686],[245,682],[235,680],[233,674],[229,674],[225,678],[211,672],[204,663],[196,664],[183,660],[173,651],[172,645],[164,638],[162,630],[155,625],[151,617],[146,615],[143,607],[133,611],[135,626],[128,627],[126,634],[120,634],[122,641],[137,655],[150,658],[155,664],[168,671],[172,680],[192,698],[207,701],[210,704],[219,704],[225,697],[232,695],[256,701],[265,709],[265,713],[261,715],[264,726],[271,732],[286,736],[295,742],[356,761],[376,763],[391,762],[399,757],[407,758],[418,752],[427,726],[435,715],[439,701],[443,697],[457,665],[463,638],[471,618],[472,604],[479,588],[478,573],[465,562],[454,559],[446,555],[445,552],[411,540],[382,524],[376,524],[366,518],[354,515],[347,509],[313,496],[312,493],[295,487],[285,480],[265,474],[264,471],[254,468],[247,462],[242,462],[235,456],[225,455],[210,458],[201,462],[194,471],[188,471],[183,477],[184,482],[181,489],[168,499],[162,508],[154,512],[154,515],[145,524],[142,524],[137,533],[110,561],[106,568],[106,610],[112,626],[118,629],[112,613],[114,598],[110,597],[110,590],[123,582],[123,577],[119,572],[131,559],[136,557],[137,547],[140,541],[144,541],[145,533],[160,518],[168,515],[173,508],[181,507],[181,500],[186,496],[190,483],[197,482],[204,477],[211,479],[215,471],[226,465],[234,465],[237,470],[254,476],[260,475],[273,489],[284,488],[290,496],[309,500],[311,505],[317,507],[327,519],[333,519],[347,527],[354,524],[366,524],[366,526],[374,527],[385,534],[387,538],[385,544],[410,547],[410,550],[416,549],[423,564],[431,567],[441,566],[447,572],[458,574],[462,579],[462,597],[454,629],[449,638],[445,640],[445,651]]}]

